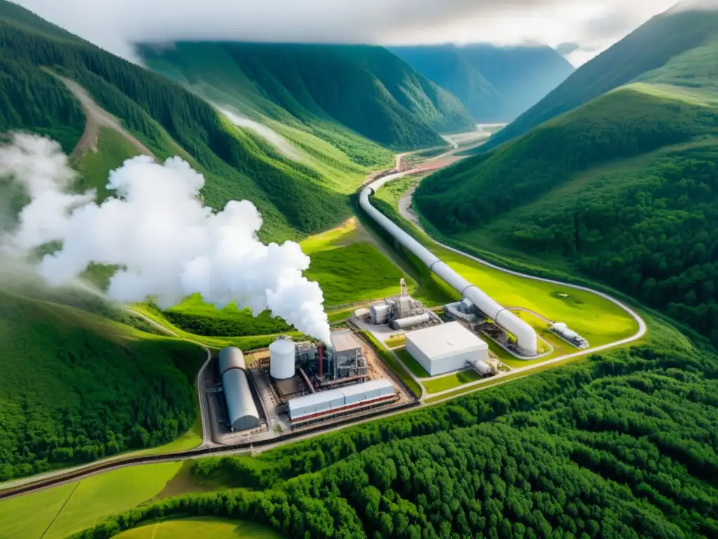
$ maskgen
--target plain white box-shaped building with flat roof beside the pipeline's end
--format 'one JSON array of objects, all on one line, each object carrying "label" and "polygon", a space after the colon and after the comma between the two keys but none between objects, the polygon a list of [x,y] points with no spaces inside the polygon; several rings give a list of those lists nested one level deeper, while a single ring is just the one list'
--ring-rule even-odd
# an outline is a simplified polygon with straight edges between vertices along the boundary
[{"label": "plain white box-shaped building with flat roof beside the pipeline's end", "polygon": [[489,359],[488,344],[458,322],[406,333],[406,351],[430,376]]}]

